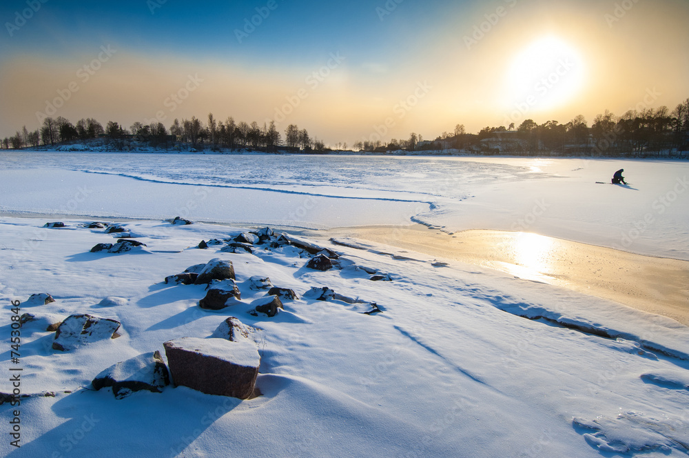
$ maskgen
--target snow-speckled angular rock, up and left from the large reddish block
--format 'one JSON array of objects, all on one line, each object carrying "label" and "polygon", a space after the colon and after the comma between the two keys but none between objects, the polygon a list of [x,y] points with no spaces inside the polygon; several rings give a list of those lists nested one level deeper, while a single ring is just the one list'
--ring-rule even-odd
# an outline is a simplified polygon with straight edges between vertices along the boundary
[{"label": "snow-speckled angular rock, up and left from the large reddish block", "polygon": [[92,342],[114,339],[119,337],[116,333],[119,328],[119,321],[114,319],[94,317],[85,313],[70,315],[55,332],[52,348],[68,351]]}]

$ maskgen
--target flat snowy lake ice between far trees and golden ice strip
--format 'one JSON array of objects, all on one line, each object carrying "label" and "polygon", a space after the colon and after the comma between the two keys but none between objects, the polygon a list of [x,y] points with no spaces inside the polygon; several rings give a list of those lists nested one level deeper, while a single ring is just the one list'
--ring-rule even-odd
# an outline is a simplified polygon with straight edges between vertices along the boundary
[{"label": "flat snowy lake ice between far trees and golden ice strip", "polygon": [[[631,186],[608,182],[619,168]],[[6,152],[0,212],[537,232],[689,259],[689,163]]]}]

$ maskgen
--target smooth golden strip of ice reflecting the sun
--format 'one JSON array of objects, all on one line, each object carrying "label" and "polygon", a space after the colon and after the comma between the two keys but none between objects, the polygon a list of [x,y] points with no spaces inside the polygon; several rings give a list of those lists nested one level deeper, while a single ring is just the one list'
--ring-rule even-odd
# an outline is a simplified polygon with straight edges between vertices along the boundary
[{"label": "smooth golden strip of ice reflecting the sun", "polygon": [[689,326],[689,261],[650,257],[530,232],[466,230],[449,235],[422,225],[335,228],[346,237],[499,270],[609,299]]}]

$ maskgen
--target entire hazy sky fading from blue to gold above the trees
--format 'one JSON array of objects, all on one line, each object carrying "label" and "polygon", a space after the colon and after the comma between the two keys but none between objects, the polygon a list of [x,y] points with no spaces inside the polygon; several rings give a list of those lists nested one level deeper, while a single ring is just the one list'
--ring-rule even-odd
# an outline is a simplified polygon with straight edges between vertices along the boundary
[{"label": "entire hazy sky fading from blue to gold above the trees", "polygon": [[686,0],[3,0],[0,19],[0,137],[212,112],[351,145],[689,97]]}]

